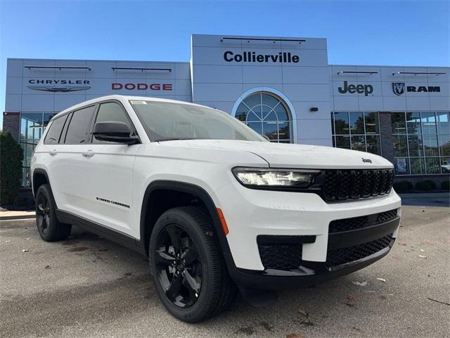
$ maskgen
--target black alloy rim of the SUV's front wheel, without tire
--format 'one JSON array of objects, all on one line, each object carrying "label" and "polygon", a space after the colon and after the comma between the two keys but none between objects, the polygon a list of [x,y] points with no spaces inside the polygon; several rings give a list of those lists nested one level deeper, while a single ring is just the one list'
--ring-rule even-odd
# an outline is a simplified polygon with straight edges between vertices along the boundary
[{"label": "black alloy rim of the SUV's front wheel, without tire", "polygon": [[202,287],[202,260],[191,236],[179,225],[167,225],[157,239],[155,264],[167,298],[180,308],[192,306]]}]

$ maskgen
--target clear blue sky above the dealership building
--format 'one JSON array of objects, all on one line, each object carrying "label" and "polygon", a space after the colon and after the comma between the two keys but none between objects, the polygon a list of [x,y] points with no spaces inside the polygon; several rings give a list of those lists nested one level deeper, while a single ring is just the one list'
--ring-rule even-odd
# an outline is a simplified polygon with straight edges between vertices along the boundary
[{"label": "clear blue sky above the dealership building", "polygon": [[7,58],[189,61],[191,34],[217,34],[325,37],[330,64],[449,66],[449,22],[450,0],[0,0],[0,111]]}]

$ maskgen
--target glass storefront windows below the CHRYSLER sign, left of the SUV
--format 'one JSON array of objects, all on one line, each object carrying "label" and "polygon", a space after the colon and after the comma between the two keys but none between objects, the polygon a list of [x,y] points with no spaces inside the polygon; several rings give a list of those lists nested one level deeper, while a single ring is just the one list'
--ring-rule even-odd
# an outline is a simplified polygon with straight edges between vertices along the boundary
[{"label": "glass storefront windows below the CHRYSLER sign, left of the SUV", "polygon": [[45,127],[56,113],[22,113],[20,114],[20,146],[23,149],[23,187],[31,187],[31,157]]}]

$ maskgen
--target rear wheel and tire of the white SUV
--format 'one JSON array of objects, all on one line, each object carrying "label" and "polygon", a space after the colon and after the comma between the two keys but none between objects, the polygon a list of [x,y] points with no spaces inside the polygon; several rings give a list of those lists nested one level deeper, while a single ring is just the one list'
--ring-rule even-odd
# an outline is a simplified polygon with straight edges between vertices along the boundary
[{"label": "rear wheel and tire of the white SUV", "polygon": [[36,225],[41,239],[46,242],[60,241],[69,236],[72,225],[60,223],[56,217],[56,203],[49,184],[42,184],[37,189]]}]

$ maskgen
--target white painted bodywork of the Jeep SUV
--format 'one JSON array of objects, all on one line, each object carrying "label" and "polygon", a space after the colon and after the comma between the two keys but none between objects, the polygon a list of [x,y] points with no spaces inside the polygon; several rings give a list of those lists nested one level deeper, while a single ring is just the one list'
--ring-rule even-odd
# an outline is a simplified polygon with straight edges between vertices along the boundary
[{"label": "white painted bodywork of the Jeep SUV", "polygon": [[[140,239],[141,206],[146,187],[151,182],[169,180],[194,184],[204,189],[224,213],[229,227],[226,239],[236,266],[262,270],[256,241],[259,234],[314,234],[316,242],[304,244],[302,257],[307,261],[323,262],[326,260],[331,220],[400,207],[400,198],[393,190],[373,199],[327,204],[317,194],[248,189],[231,173],[231,169],[237,166],[392,168],[392,164],[380,156],[321,146],[269,142],[150,142],[128,101],[143,98],[105,96],[88,103],[108,99],[122,102],[141,144],[45,145],[42,142],[44,135],[34,152],[32,170],[46,170],[58,208],[117,232]],[[84,105],[86,103],[68,111]],[[57,152],[55,156],[49,154],[53,150]],[[89,150],[94,156],[82,155]],[[371,163],[363,162],[361,158],[369,159]],[[97,197],[120,202],[129,208],[105,203]]]}]

